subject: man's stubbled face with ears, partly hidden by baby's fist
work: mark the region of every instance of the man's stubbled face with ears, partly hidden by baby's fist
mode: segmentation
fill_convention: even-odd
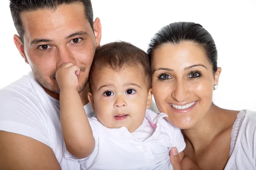
[[[55,73],[66,62],[81,68],[79,92],[82,91],[101,38],[99,19],[94,22],[94,35],[82,3],[61,5],[56,10],[24,11],[20,17],[25,31],[23,51],[22,47],[17,48],[47,93],[59,94]]]

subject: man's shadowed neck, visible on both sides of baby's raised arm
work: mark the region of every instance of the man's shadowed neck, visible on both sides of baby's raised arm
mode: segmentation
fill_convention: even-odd
[[[44,88],[44,87],[43,87]],[[44,88],[44,91],[49,94],[49,96],[53,97],[54,99],[60,100],[60,95],[48,90],[47,88]],[[84,87],[84,89],[79,93],[79,96],[81,98],[81,101],[83,103],[83,105],[86,105],[89,100],[87,97],[87,93],[89,92],[89,84],[87,83],[87,85]]]

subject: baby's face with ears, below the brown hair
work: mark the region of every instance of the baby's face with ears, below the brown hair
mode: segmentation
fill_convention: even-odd
[[[140,67],[125,67],[118,72],[103,68],[93,75],[91,90],[88,97],[97,119],[108,128],[125,126],[133,132],[151,105],[151,89]]]

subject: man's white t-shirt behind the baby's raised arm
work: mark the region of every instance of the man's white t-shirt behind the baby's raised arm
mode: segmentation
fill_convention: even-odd
[[[59,116],[59,101],[44,91],[31,72],[0,89],[0,130],[38,140],[52,148],[62,170],[80,170],[78,161],[64,157]]]

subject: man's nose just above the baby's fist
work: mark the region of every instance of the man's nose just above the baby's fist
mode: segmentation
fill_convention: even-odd
[[[72,62],[74,65],[76,65],[76,59],[75,56],[73,56],[72,52],[68,50],[67,48],[61,48],[58,50],[57,54],[57,69],[61,67],[64,63]]]

